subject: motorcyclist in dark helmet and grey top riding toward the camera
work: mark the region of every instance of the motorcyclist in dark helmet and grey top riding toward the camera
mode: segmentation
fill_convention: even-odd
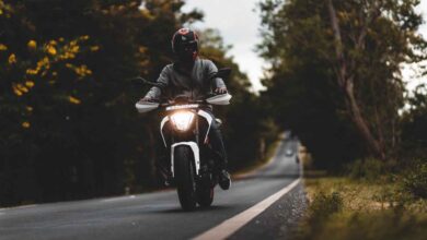
[[[212,91],[209,75],[218,71],[212,61],[198,58],[198,36],[188,28],[178,29],[172,37],[172,50],[176,57],[173,64],[163,68],[158,83],[161,87],[153,86],[140,101],[159,99],[169,93],[170,97],[184,95],[193,99],[204,99]],[[214,91],[217,94],[227,93],[227,86],[219,77],[214,80]],[[207,110],[212,117],[212,109]],[[215,119],[215,117],[214,117]],[[230,188],[230,175],[227,171],[227,154],[222,142],[221,132],[216,121],[212,121],[209,131],[209,141],[212,149],[219,155],[221,189]]]

